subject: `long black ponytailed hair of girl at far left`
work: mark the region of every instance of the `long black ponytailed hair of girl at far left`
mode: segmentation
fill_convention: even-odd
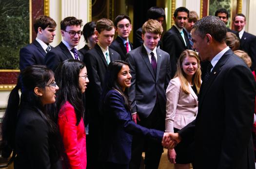
[[[45,106],[42,105],[40,96],[34,93],[36,87],[44,89],[54,81],[54,73],[46,66],[30,66],[24,69],[19,77],[16,87],[11,91],[8,99],[7,108],[1,124],[1,137],[4,143],[2,155],[9,157],[13,151],[12,162],[16,156],[15,151],[15,132],[17,126],[18,113],[24,107],[34,110],[39,113],[49,126],[49,142],[51,147],[56,150],[59,155],[59,137],[58,126],[50,118],[48,112],[45,111]],[[21,96],[19,95],[19,90]],[[55,154],[56,156],[56,154]],[[58,157],[57,157],[58,158]]]

